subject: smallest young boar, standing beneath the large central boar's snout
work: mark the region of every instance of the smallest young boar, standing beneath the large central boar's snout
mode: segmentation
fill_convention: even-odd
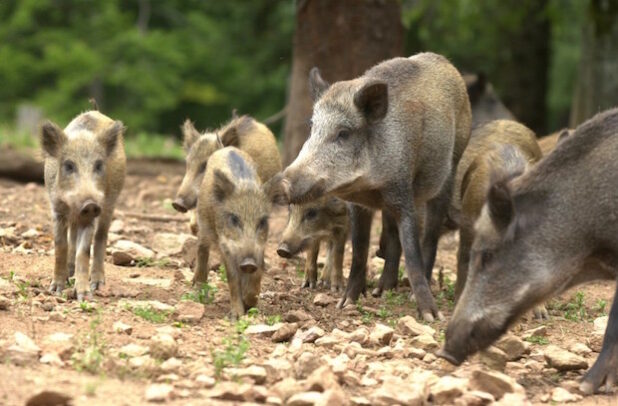
[[[307,251],[302,287],[315,288],[320,243],[326,241],[328,253],[320,285],[336,292],[343,288],[343,251],[347,238],[348,208],[344,201],[324,197],[310,203],[292,204],[277,254],[291,258],[300,251]]]

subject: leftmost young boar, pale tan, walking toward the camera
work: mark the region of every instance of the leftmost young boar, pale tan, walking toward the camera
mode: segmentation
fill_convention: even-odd
[[[54,221],[52,292],[60,294],[73,273],[80,301],[105,283],[107,232],[126,171],[123,131],[120,121],[98,111],[80,114],[64,130],[49,121],[41,128],[45,187]]]

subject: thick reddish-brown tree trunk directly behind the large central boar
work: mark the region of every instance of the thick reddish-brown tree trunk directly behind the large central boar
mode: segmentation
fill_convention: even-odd
[[[283,162],[296,158],[309,135],[313,102],[309,70],[317,66],[329,82],[352,79],[403,52],[398,0],[299,0]]]

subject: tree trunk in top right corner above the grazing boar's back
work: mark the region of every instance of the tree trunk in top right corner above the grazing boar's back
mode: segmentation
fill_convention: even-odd
[[[618,105],[618,0],[591,0],[570,127]]]

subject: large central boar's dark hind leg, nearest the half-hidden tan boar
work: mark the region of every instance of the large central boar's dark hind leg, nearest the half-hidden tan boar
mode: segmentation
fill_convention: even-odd
[[[453,176],[445,182],[438,196],[427,202],[425,211],[425,222],[423,225],[421,249],[423,253],[423,264],[425,265],[425,277],[431,281],[433,266],[436,262],[436,252],[438,250],[438,240],[442,232],[442,225],[451,202],[453,190]]]

